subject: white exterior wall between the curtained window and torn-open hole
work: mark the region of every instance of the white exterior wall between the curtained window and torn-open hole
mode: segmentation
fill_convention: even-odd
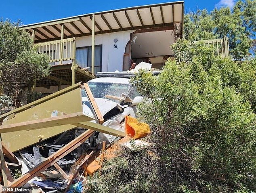
[[[102,70],[103,72],[113,72],[123,70],[124,51],[127,42],[130,40],[130,34],[133,31],[120,31],[108,34],[99,34],[95,36],[95,45],[102,44]],[[118,42],[114,43],[114,39]],[[118,48],[114,48],[114,44]],[[76,47],[92,45],[92,36],[76,38]]]

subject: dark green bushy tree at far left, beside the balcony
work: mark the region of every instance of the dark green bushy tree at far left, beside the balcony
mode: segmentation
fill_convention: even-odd
[[[49,59],[33,48],[29,33],[0,19],[0,86],[4,94],[19,96],[21,89],[49,74]]]

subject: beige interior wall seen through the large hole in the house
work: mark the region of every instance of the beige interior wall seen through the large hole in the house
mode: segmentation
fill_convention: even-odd
[[[132,59],[173,55],[174,30],[136,33],[132,40]]]

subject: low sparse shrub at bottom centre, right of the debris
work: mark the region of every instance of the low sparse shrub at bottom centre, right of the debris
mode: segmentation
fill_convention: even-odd
[[[141,167],[143,166],[143,167]],[[86,193],[151,193],[156,187],[159,165],[149,149],[124,149],[107,159],[103,168],[88,179]]]

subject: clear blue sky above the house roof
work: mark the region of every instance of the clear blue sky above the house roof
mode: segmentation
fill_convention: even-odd
[[[175,0],[1,0],[0,17],[11,21],[21,19],[25,25],[86,13],[173,1]],[[212,10],[216,6],[232,7],[235,4],[235,0],[184,1],[185,12],[197,8]]]

